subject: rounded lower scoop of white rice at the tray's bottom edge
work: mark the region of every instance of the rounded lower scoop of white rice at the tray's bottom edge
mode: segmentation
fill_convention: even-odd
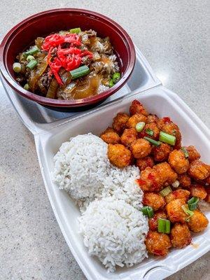
[[[146,218],[123,200],[114,197],[94,200],[79,220],[88,252],[97,256],[109,272],[116,265],[130,267],[147,256]]]

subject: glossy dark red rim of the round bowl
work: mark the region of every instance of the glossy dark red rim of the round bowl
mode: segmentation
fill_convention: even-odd
[[[12,76],[10,76],[9,71],[7,70],[3,54],[6,52],[8,43],[10,43],[10,36],[13,35],[14,31],[17,31],[17,29],[20,29],[22,25],[25,25],[25,23],[29,22],[30,20],[33,20],[34,18],[38,18],[40,15],[49,15],[51,13],[57,13],[57,12],[62,12],[62,11],[69,11],[69,12],[78,12],[78,13],[86,13],[87,15],[94,15],[95,17],[102,18],[103,20],[106,20],[110,22],[112,25],[118,28],[118,31],[123,35],[125,40],[127,41],[128,45],[128,51],[130,52],[130,61],[128,62],[127,69],[125,70],[125,73],[123,74],[122,78],[120,81],[111,87],[109,90],[105,90],[104,92],[94,95],[93,97],[87,97],[84,99],[74,99],[74,100],[59,100],[59,99],[50,99],[46,97],[41,97],[37,94],[34,94],[32,92],[29,92],[25,90],[23,87],[21,87],[14,79]],[[106,17],[105,15],[102,15],[100,13],[95,13],[91,10],[85,10],[85,9],[79,9],[79,8],[56,8],[52,10],[45,10],[41,13],[36,13],[34,15],[31,15],[29,18],[26,18],[25,20],[22,20],[21,22],[18,23],[18,25],[15,25],[8,33],[6,36],[4,36],[3,40],[1,41],[0,45],[0,64],[1,64],[1,73],[3,78],[6,80],[8,85],[13,88],[13,90],[18,91],[20,95],[23,97],[26,97],[27,99],[33,100],[34,102],[37,102],[38,104],[43,104],[45,106],[54,106],[54,107],[77,107],[77,106],[87,106],[90,104],[94,104],[97,102],[102,101],[103,99],[106,99],[109,97],[111,94],[115,93],[117,90],[120,90],[123,85],[125,85],[127,79],[130,77],[134,65],[135,65],[135,60],[136,60],[136,52],[134,48],[134,43],[132,42],[132,39],[130,36],[127,34],[125,29],[118,25],[117,22],[114,20],[111,20],[110,18]]]

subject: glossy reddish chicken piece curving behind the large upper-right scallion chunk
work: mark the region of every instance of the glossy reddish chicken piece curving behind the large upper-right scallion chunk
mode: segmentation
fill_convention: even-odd
[[[179,131],[178,125],[173,123],[169,117],[160,118],[157,121],[157,125],[159,130],[162,130],[163,132],[174,135],[176,137],[176,144],[174,148],[179,150],[181,148],[181,133]]]

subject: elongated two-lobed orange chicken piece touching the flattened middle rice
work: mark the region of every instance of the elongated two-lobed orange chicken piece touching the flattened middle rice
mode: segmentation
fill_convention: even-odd
[[[141,190],[156,191],[161,190],[165,185],[176,181],[177,174],[167,162],[159,163],[153,168],[146,167],[141,172],[140,179],[137,179]]]

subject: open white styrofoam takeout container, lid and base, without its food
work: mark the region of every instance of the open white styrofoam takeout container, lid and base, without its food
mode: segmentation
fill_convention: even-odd
[[[173,92],[165,89],[155,78],[148,63],[137,51],[137,65],[132,76],[133,84],[125,86],[124,92],[117,92],[111,101],[104,102],[94,110],[78,113],[49,111],[38,104],[26,103],[6,85],[4,88],[16,111],[29,130],[34,134],[38,160],[52,209],[73,256],[90,280],[160,280],[177,272],[200,258],[210,249],[210,228],[193,235],[193,244],[180,250],[172,250],[166,258],[148,258],[134,267],[123,267],[108,273],[97,258],[92,258],[83,245],[83,237],[78,233],[80,211],[64,191],[52,183],[53,156],[64,141],[78,134],[92,132],[100,134],[111,125],[116,113],[128,112],[130,103],[139,99],[149,112],[159,117],[170,116],[180,127],[184,145],[195,145],[208,162],[210,153],[210,132],[202,121]],[[139,54],[139,56],[138,56]],[[139,58],[138,58],[139,57]],[[139,76],[138,73],[141,73]],[[129,92],[129,90],[134,90]],[[38,106],[37,106],[38,105]],[[210,219],[210,213],[206,213]]]

